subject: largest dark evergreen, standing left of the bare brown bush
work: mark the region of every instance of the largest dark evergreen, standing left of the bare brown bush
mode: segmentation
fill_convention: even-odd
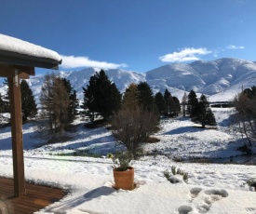
[[[113,112],[119,110],[121,94],[103,70],[90,77],[89,85],[84,89],[84,108],[88,108],[91,120],[99,113],[108,119]]]

